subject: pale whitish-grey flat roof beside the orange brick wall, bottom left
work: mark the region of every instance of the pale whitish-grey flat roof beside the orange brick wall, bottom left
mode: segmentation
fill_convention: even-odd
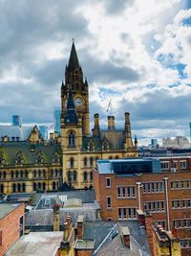
[[[11,247],[7,256],[53,256],[63,239],[63,232],[31,232]]]

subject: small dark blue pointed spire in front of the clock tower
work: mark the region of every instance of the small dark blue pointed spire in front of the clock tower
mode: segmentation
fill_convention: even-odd
[[[67,110],[66,110],[66,116],[65,116],[65,123],[67,124],[77,124],[77,115],[74,107],[74,98],[73,98],[73,92],[70,88],[69,90],[69,96],[68,96],[68,102],[67,102]]]

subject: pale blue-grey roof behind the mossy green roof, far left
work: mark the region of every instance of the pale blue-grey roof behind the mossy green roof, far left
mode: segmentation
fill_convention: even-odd
[[[11,137],[18,137],[19,141],[27,140],[32,133],[33,127],[17,127],[17,126],[0,126],[0,141],[2,137],[8,136],[11,140]]]

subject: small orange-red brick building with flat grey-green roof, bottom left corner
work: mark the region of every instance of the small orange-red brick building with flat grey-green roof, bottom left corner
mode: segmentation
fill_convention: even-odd
[[[23,236],[24,228],[24,204],[0,203],[0,256]]]

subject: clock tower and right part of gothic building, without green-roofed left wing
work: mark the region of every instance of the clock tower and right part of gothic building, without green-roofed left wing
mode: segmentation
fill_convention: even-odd
[[[129,113],[125,113],[124,129],[115,128],[115,117],[108,116],[108,129],[95,126],[90,135],[89,84],[83,80],[82,68],[74,42],[65,82],[61,85],[61,148],[63,154],[63,181],[75,188],[88,187],[93,181],[92,169],[97,159],[136,157],[137,140],[132,142]]]

